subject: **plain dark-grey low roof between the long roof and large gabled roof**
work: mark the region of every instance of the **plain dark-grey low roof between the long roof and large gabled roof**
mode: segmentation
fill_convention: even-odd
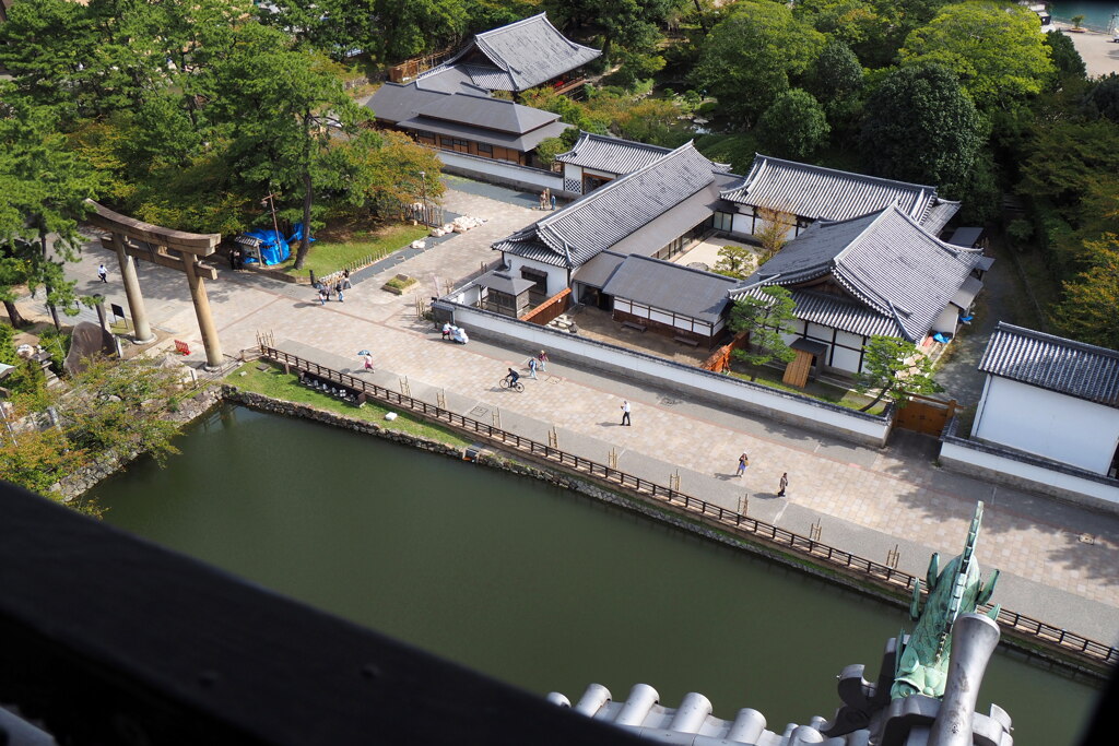
[[[726,292],[736,282],[733,277],[631,254],[602,292],[714,323],[730,302]]]

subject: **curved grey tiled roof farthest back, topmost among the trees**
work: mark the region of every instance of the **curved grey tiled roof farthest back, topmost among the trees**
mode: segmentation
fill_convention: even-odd
[[[440,67],[451,67],[478,49],[492,64],[464,66],[471,79],[490,91],[526,91],[581,67],[602,55],[564,37],[546,13],[474,35],[473,41]],[[439,69],[439,68],[436,68]]]

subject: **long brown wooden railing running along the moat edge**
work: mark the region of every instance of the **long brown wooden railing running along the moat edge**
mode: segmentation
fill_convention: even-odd
[[[368,397],[411,409],[412,412],[420,413],[425,417],[436,419],[441,423],[446,423],[452,427],[469,431],[492,441],[498,441],[502,445],[513,446],[514,448],[526,452],[530,455],[556,462],[557,464],[568,466],[579,472],[585,472],[591,476],[612,482],[628,490],[632,490],[642,497],[651,497],[667,504],[681,507],[690,513],[697,513],[706,519],[714,519],[718,522],[720,528],[733,529],[740,532],[749,533],[753,537],[771,541],[781,547],[787,547],[802,556],[821,559],[831,565],[855,570],[873,580],[897,586],[899,588],[903,588],[910,593],[912,593],[914,585],[918,583],[918,577],[915,575],[910,575],[904,570],[896,569],[888,565],[883,565],[882,563],[876,563],[873,559],[859,557],[858,555],[853,555],[849,551],[844,551],[843,549],[821,544],[820,541],[810,539],[809,537],[800,533],[794,533],[793,531],[786,530],[772,523],[767,523],[765,521],[758,520],[756,518],[750,518],[733,510],[727,510],[722,506],[709,503],[706,500],[700,500],[699,498],[680,492],[679,490],[675,490],[670,487],[651,482],[642,476],[637,476],[636,474],[630,474],[619,469],[591,461],[590,459],[584,459],[583,456],[575,455],[574,453],[561,451],[560,448],[552,447],[551,445],[534,441],[523,435],[510,433],[507,429],[495,427],[489,423],[460,415],[455,412],[444,409],[433,404],[427,404],[426,402],[416,399],[412,396],[398,394],[397,391],[385,388],[384,386],[378,386],[363,380],[361,378],[350,376],[349,374],[344,374],[333,370],[332,368],[320,366],[319,363],[301,358],[298,355],[292,355],[273,347],[261,344],[261,357],[269,358],[280,365],[294,366],[297,369],[304,372],[337,383],[341,386],[346,386],[347,388],[357,389]],[[980,611],[982,612],[987,612],[990,608],[990,604],[984,604],[980,606]],[[1045,622],[1040,622],[1029,616],[1007,611],[1005,608],[999,610],[997,618],[999,624],[1003,626],[1008,627],[1024,636],[1034,638],[1041,643],[1056,645],[1061,650],[1079,653],[1094,662],[1103,663],[1106,665],[1115,665],[1116,663],[1119,663],[1119,649],[1113,646],[1106,645],[1101,642],[1090,640],[1082,635],[1055,627],[1051,624],[1046,624]]]

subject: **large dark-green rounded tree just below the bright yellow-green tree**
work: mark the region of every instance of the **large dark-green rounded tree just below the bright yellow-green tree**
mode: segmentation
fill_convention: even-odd
[[[871,94],[859,148],[878,176],[944,187],[965,180],[985,140],[952,73],[928,65],[891,73]]]

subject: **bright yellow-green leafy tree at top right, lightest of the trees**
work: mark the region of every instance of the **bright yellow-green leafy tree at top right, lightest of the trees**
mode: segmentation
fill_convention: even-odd
[[[995,2],[944,7],[909,35],[899,56],[904,66],[943,65],[984,110],[1041,93],[1055,72],[1036,13]]]

